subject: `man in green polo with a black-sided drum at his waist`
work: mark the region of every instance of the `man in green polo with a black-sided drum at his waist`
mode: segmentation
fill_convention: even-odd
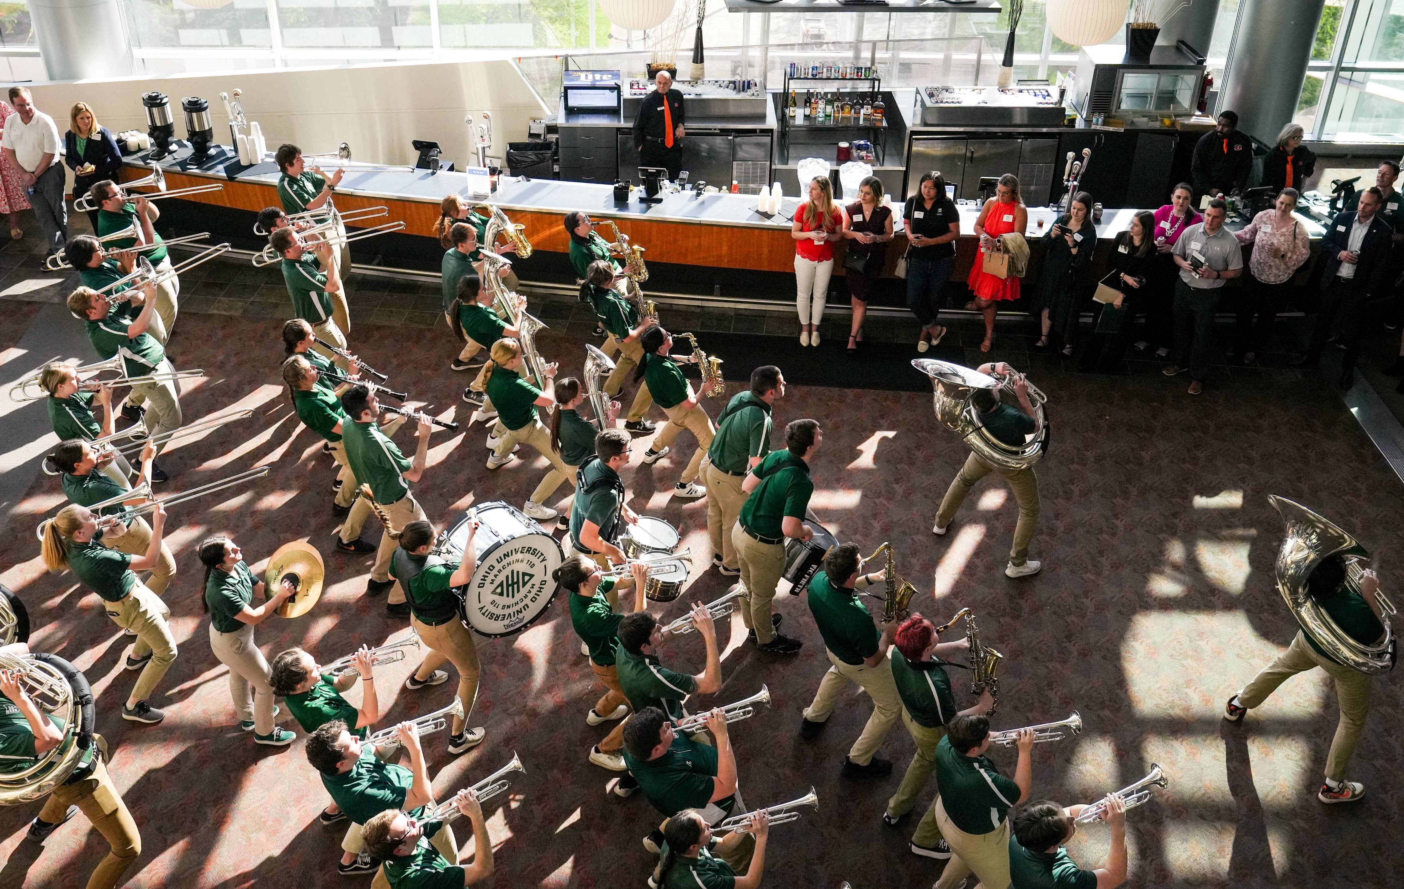
[[[776,632],[775,584],[785,574],[785,538],[807,541],[814,531],[804,524],[814,482],[809,463],[824,444],[817,420],[792,420],[785,427],[785,449],[772,451],[751,466],[741,482],[746,503],[731,528],[731,546],[741,567],[746,602],[741,619],[755,647],[771,654],[799,653],[799,639]]]

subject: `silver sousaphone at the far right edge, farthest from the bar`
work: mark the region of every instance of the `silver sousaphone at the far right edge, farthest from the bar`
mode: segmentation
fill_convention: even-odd
[[[1375,595],[1383,612],[1380,622],[1384,625],[1384,638],[1376,645],[1366,645],[1346,635],[1307,591],[1307,577],[1332,555],[1345,558],[1345,583],[1349,588],[1359,590],[1365,573],[1362,562],[1369,559],[1369,551],[1304,506],[1276,494],[1271,494],[1268,503],[1278,510],[1286,525],[1286,536],[1278,549],[1278,591],[1302,625],[1302,632],[1316,640],[1331,659],[1352,670],[1367,676],[1391,670],[1396,645],[1389,615],[1398,612],[1383,593],[1376,591]]]

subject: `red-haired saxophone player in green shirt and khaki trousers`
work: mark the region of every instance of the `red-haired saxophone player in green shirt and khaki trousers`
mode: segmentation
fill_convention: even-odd
[[[994,697],[986,690],[980,692],[974,706],[956,711],[951,677],[941,667],[941,659],[967,650],[969,639],[941,642],[935,625],[914,614],[897,628],[893,647],[892,678],[897,684],[897,697],[901,698],[901,722],[907,726],[917,753],[911,757],[897,792],[887,801],[887,809],[882,815],[887,824],[900,822],[927,786],[927,778],[936,764],[936,744],[946,736],[946,725],[956,716],[983,715],[994,706]],[[922,826],[934,830],[935,836],[914,837],[911,851],[927,858],[949,858],[951,847],[941,838],[935,819],[929,823],[924,820]]]

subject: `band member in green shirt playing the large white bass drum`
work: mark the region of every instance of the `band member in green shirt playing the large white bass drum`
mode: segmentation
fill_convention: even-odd
[[[439,670],[445,663],[452,663],[458,670],[458,699],[463,705],[463,715],[453,716],[448,739],[448,751],[455,756],[483,743],[486,735],[482,727],[468,727],[473,702],[477,701],[482,663],[477,646],[473,645],[473,633],[458,617],[459,601],[453,594],[477,570],[477,551],[473,549],[476,535],[477,520],[473,520],[468,524],[462,560],[448,562],[434,552],[438,536],[434,525],[416,520],[400,531],[400,546],[390,558],[390,576],[400,581],[410,605],[410,626],[430,649],[414,673],[404,680],[404,687],[413,691],[448,681],[448,673]]]

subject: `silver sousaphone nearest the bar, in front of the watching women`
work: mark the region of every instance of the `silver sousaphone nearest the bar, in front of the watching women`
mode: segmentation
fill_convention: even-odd
[[[965,438],[970,449],[987,463],[1002,469],[1029,469],[1047,451],[1049,421],[1045,413],[1047,396],[1032,383],[1029,383],[1029,402],[1033,404],[1039,431],[1022,445],[1012,447],[986,431],[972,396],[976,389],[1000,389],[1012,393],[1016,375],[981,374],[959,364],[934,358],[913,358],[911,367],[931,378],[931,388],[935,390],[936,419],[948,430]]]

